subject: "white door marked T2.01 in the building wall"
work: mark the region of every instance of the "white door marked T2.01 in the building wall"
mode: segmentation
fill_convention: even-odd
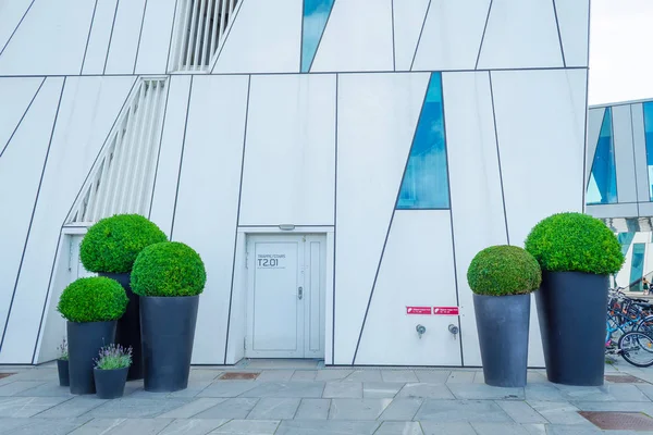
[[[324,358],[326,239],[250,236],[245,352],[249,358]]]

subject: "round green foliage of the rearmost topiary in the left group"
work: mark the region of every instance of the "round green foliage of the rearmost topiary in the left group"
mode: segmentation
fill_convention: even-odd
[[[79,259],[87,271],[128,273],[145,247],[165,240],[165,234],[140,214],[116,214],[88,228]]]

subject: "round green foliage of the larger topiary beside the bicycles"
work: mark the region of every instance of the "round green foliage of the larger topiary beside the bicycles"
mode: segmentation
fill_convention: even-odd
[[[582,213],[558,213],[537,224],[526,250],[550,272],[617,273],[624,264],[621,246],[600,220]]]

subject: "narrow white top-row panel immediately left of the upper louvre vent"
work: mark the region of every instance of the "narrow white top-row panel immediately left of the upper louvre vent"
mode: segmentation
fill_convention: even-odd
[[[136,74],[165,74],[175,0],[148,1],[136,59]]]

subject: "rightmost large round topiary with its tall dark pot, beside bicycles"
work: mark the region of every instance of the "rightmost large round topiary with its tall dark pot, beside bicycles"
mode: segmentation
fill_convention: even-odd
[[[535,293],[549,381],[603,385],[608,276],[624,264],[617,237],[582,213],[558,213],[535,225],[526,250],[542,268]]]

